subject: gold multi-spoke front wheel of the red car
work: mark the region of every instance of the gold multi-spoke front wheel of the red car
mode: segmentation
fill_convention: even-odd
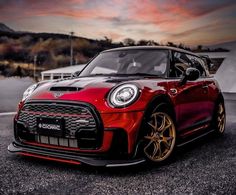
[[[175,125],[164,112],[155,112],[148,122],[150,132],[144,136],[147,145],[145,155],[153,162],[161,162],[172,153],[176,141]]]

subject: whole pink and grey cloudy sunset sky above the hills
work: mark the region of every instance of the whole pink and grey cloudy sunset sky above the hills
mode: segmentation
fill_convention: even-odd
[[[14,30],[186,45],[236,40],[235,0],[0,0]]]

